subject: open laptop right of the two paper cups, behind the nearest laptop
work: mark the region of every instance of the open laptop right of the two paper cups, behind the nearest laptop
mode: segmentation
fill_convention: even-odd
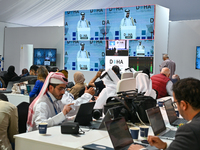
[[[153,107],[146,110],[154,135],[165,139],[174,139],[176,131],[166,128],[160,108]]]

